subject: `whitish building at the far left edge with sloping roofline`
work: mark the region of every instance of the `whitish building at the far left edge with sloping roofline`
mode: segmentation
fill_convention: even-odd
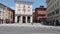
[[[8,19],[8,14],[7,14],[5,8],[6,8],[6,6],[4,4],[0,3],[0,19],[3,20],[3,23],[5,22],[5,19]]]

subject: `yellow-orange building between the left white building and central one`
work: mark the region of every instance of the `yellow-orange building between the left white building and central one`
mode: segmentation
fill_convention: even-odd
[[[8,14],[8,19],[6,19],[6,23],[8,23],[8,21],[10,23],[14,23],[14,21],[15,21],[15,11],[12,10],[11,8],[9,8],[9,7],[6,7],[5,10]]]

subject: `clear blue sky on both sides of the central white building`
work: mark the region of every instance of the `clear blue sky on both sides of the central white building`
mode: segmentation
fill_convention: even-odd
[[[25,1],[33,2],[33,4],[32,4],[33,9],[35,9],[41,5],[46,7],[46,0],[25,0]],[[0,0],[0,2],[15,10],[14,0]]]

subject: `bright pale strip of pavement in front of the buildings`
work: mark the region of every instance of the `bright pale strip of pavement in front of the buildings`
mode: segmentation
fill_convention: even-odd
[[[33,25],[32,24],[0,24],[0,26],[8,26],[8,27],[41,27],[41,28],[60,28],[60,26],[47,26],[47,25],[42,25],[40,23],[34,23]]]

